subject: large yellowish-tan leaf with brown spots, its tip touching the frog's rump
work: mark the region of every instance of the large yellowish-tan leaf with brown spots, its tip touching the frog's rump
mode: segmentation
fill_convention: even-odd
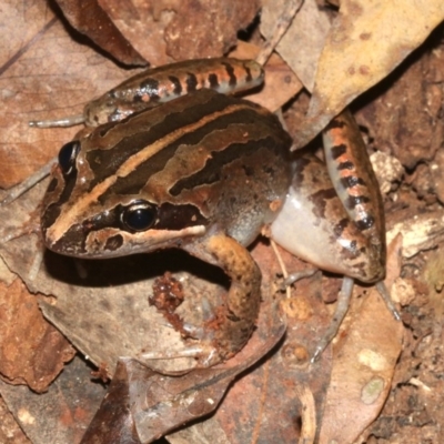
[[[444,18],[441,0],[341,1],[319,60],[303,147],[359,94],[376,84],[416,49]]]

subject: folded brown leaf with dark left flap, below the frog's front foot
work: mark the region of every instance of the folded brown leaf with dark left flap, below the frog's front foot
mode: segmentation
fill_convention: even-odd
[[[108,395],[82,442],[151,443],[208,415],[218,407],[234,377],[266,354],[284,331],[282,324],[274,325],[271,339],[236,366],[194,370],[174,376],[134,360],[120,360]]]

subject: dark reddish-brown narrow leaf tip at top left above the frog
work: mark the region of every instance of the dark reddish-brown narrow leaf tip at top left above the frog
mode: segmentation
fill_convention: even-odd
[[[97,0],[57,0],[64,17],[82,34],[123,64],[145,67],[148,63],[121,34]]]

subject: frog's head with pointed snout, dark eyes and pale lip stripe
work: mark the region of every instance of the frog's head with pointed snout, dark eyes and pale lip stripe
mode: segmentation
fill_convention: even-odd
[[[92,139],[97,139],[94,132]],[[125,165],[129,159],[119,159],[100,144],[92,150],[90,142],[88,135],[63,145],[51,173],[41,216],[50,250],[79,258],[113,258],[181,246],[205,232],[206,220],[196,206],[160,202],[141,193],[143,175],[127,186],[129,176],[122,172],[131,169]]]

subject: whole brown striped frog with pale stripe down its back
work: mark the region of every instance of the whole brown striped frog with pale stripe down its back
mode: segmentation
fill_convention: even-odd
[[[329,173],[313,155],[291,167],[276,117],[224,94],[262,81],[253,61],[180,62],[123,82],[81,117],[33,122],[95,127],[60,150],[41,218],[49,249],[104,259],[180,248],[229,275],[218,329],[190,332],[200,345],[184,351],[203,365],[234,355],[253,331],[261,272],[246,246],[268,225],[284,249],[349,276],[315,356],[337,331],[354,279],[379,282],[394,311],[381,284],[382,199],[353,118],[324,131]]]

